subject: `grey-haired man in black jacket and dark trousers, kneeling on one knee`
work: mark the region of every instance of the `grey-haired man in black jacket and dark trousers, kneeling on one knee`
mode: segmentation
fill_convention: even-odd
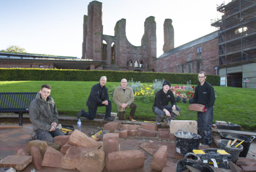
[[[86,102],[89,113],[85,112],[85,110],[82,109],[77,114],[78,118],[82,116],[90,120],[93,120],[96,116],[96,111],[98,106],[106,106],[104,120],[113,121],[113,119],[110,117],[112,106],[111,106],[111,101],[108,98],[107,87],[105,87],[106,81],[107,81],[107,77],[102,76],[99,80],[99,83],[92,86],[91,93]]]

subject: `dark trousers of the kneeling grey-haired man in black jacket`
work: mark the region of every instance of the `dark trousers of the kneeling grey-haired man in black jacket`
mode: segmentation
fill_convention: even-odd
[[[102,104],[102,103],[97,103],[95,108],[88,107],[88,112],[89,113],[83,111],[81,116],[86,117],[87,119],[93,120],[96,116],[98,106],[106,106],[105,118],[109,118],[110,114],[111,114],[111,108],[112,108],[110,100],[108,100],[108,105],[105,105],[105,104]]]

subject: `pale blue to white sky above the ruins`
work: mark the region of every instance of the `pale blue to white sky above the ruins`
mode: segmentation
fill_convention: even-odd
[[[92,0],[0,0],[0,50],[18,45],[27,53],[81,58],[83,16]],[[102,2],[103,34],[126,19],[128,41],[141,45],[144,21],[157,24],[157,57],[163,54],[164,19],[171,18],[178,47],[213,31],[219,0],[98,0]]]

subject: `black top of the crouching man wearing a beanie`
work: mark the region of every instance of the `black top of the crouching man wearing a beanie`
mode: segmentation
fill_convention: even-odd
[[[165,94],[164,90],[161,89],[156,94],[153,107],[157,106],[158,109],[163,110],[164,106],[168,105],[169,101],[171,102],[171,105],[176,105],[176,101],[175,101],[173,92],[171,90],[168,90],[168,92],[166,92],[166,94]]]

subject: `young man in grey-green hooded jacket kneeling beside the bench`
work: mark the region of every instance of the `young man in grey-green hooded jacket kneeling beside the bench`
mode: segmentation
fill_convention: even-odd
[[[53,142],[53,137],[64,133],[60,129],[55,129],[59,114],[50,93],[51,86],[41,86],[41,90],[29,104],[29,119],[36,133],[35,139]]]

